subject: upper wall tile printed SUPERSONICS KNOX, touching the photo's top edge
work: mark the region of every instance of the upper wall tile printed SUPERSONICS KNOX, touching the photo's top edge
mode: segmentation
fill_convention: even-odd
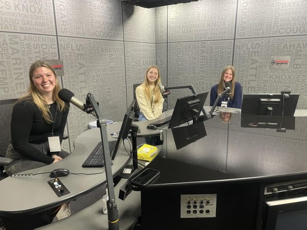
[[[235,0],[208,0],[168,6],[168,41],[234,37]]]

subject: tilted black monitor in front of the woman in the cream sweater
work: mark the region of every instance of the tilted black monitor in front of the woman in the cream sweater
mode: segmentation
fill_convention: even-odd
[[[197,122],[209,92],[178,98],[168,128],[193,120]]]

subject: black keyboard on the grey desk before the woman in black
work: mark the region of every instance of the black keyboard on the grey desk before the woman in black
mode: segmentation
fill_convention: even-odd
[[[116,145],[116,141],[108,142],[110,153],[114,149]],[[86,158],[82,167],[103,167],[103,153],[102,153],[102,144],[101,142],[95,147],[95,149],[91,152],[91,154]]]

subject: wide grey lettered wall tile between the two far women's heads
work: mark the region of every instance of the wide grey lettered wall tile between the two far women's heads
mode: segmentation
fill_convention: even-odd
[[[224,67],[232,63],[232,51],[233,40],[168,43],[168,86],[193,85],[196,93],[210,92]],[[185,94],[191,95],[191,91],[172,90],[168,108]],[[208,96],[205,105],[209,101]]]

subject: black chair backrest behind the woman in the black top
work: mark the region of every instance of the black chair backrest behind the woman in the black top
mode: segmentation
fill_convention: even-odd
[[[11,142],[11,114],[17,99],[0,100],[0,156],[5,156]]]

